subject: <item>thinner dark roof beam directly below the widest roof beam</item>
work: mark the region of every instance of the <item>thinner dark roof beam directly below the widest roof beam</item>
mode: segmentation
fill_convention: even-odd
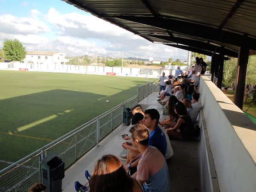
[[[166,41],[172,41],[172,42],[187,45],[190,47],[204,49],[204,50],[211,51],[211,52],[220,53],[221,51],[223,51],[224,55],[228,55],[228,56],[236,57],[236,58],[238,57],[238,53],[235,51],[231,51],[230,49],[226,49],[226,48],[221,49],[221,47],[218,47],[218,46],[215,46],[215,45],[212,45],[209,43],[204,43],[202,41],[195,41],[195,40],[185,39],[185,38],[168,37],[168,36],[162,36],[162,35],[148,35],[148,36],[163,39]]]

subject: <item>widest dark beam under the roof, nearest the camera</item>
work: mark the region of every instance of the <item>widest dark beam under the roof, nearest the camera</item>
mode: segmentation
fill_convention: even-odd
[[[178,32],[186,35],[204,38],[209,41],[217,41],[230,45],[241,45],[243,35],[237,33],[215,29],[198,23],[190,23],[182,20],[164,19],[155,17],[141,16],[115,16],[116,18],[140,23],[143,25],[153,26],[160,29]],[[256,49],[256,39],[250,38],[250,48]]]

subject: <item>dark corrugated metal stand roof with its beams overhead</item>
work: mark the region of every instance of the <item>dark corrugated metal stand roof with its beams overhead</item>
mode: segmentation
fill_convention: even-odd
[[[255,0],[63,0],[151,42],[238,57],[243,36],[256,54]]]

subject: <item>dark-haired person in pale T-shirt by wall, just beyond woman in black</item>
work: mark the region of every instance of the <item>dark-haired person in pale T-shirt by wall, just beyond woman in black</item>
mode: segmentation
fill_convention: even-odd
[[[200,95],[198,93],[192,93],[192,101],[184,99],[183,103],[188,108],[188,115],[191,117],[192,122],[195,122],[198,113],[201,109],[201,104],[198,102]]]

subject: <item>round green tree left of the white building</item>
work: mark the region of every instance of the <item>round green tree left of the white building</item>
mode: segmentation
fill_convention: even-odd
[[[4,39],[3,52],[10,61],[21,61],[26,57],[26,50],[17,39]]]

